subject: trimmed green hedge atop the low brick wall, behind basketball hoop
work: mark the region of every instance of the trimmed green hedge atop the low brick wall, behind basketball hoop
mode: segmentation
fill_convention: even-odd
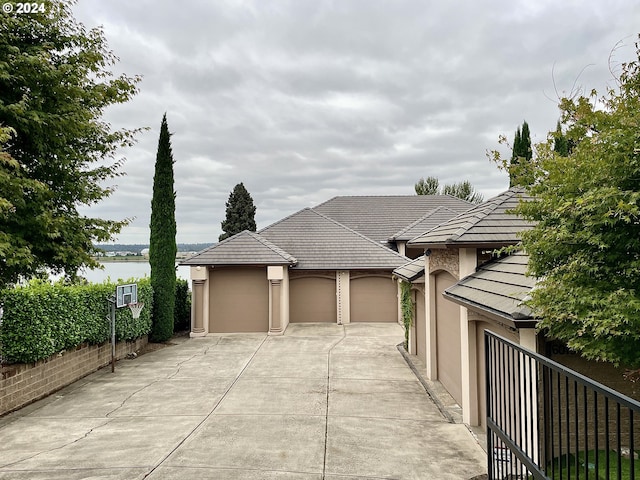
[[[117,340],[135,340],[151,330],[153,290],[148,278],[138,284],[138,302],[145,306],[134,320],[128,308],[116,310]],[[0,304],[0,349],[5,361],[31,363],[82,343],[109,340],[111,328],[107,299],[115,283],[64,285],[33,281],[4,290]]]

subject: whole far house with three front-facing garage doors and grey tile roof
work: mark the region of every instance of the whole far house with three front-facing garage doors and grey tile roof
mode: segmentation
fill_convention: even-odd
[[[234,235],[181,263],[191,267],[191,335],[397,322],[392,272],[410,260],[404,231],[470,207],[448,195],[339,196]]]

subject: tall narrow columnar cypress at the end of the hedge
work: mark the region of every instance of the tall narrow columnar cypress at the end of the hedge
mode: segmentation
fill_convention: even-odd
[[[149,264],[153,287],[151,340],[164,342],[173,334],[176,292],[176,194],[173,190],[173,153],[167,125],[162,117],[153,176]]]

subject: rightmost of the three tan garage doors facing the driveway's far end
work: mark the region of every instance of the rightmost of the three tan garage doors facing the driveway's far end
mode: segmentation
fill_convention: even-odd
[[[397,322],[398,285],[389,277],[357,277],[349,284],[352,322]]]

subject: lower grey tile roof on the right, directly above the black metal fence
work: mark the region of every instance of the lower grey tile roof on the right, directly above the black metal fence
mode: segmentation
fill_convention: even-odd
[[[455,303],[517,323],[531,322],[531,310],[522,301],[535,286],[536,279],[526,276],[529,257],[517,252],[478,267],[475,273],[444,291]]]

